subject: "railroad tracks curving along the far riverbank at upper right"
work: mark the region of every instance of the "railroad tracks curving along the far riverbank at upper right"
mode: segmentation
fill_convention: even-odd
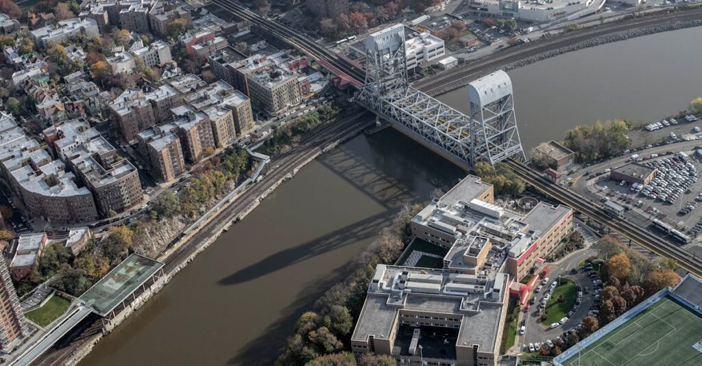
[[[540,39],[522,46],[507,48],[496,54],[490,55],[489,57],[483,57],[482,59],[478,60],[477,62],[473,62],[468,66],[451,69],[448,72],[432,76],[430,79],[423,79],[422,81],[414,83],[413,86],[425,93],[435,93],[439,90],[446,89],[446,87],[449,85],[460,85],[465,81],[477,79],[479,76],[483,76],[483,74],[488,74],[489,72],[500,69],[514,62],[540,55],[541,53],[551,50],[557,50],[562,47],[581,43],[583,41],[597,39],[602,36],[609,36],[611,34],[617,34],[632,29],[656,27],[696,19],[702,19],[702,8],[612,22],[607,25],[600,25],[597,27],[592,27],[591,29],[576,31],[565,36],[556,36],[555,38],[551,39]]]

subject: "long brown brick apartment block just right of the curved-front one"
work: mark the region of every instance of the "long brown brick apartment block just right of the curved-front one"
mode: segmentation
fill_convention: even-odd
[[[124,212],[143,201],[139,174],[134,165],[84,120],[66,121],[44,131],[55,153],[77,175],[95,198],[101,215]]]

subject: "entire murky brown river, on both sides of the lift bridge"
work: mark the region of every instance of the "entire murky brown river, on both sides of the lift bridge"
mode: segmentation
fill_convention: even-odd
[[[684,109],[702,94],[700,36],[654,34],[513,70],[525,149],[576,124]],[[465,88],[440,99],[467,107]],[[282,184],[81,365],[269,365],[393,212],[463,175],[395,130],[360,135]]]

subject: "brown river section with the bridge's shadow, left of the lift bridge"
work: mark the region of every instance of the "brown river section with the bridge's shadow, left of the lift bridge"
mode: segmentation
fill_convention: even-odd
[[[81,365],[268,365],[394,212],[464,175],[395,130],[359,135],[282,184]]]

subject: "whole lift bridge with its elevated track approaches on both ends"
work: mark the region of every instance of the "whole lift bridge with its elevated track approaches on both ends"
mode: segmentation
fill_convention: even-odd
[[[553,184],[539,172],[524,165],[517,122],[512,109],[511,83],[497,72],[470,83],[470,115],[446,106],[409,86],[404,55],[404,33],[396,25],[371,34],[366,39],[366,72],[344,57],[274,20],[268,20],[231,0],[213,0],[226,11],[248,20],[265,32],[286,41],[331,72],[353,79],[358,86],[355,100],[392,126],[428,145],[454,163],[470,168],[477,161],[505,161],[519,177],[555,200],[569,205],[609,229],[621,233],[661,257],[674,259],[683,269],[702,276],[702,261],[691,257],[641,226],[604,212],[595,203]],[[363,83],[361,81],[364,81]]]

